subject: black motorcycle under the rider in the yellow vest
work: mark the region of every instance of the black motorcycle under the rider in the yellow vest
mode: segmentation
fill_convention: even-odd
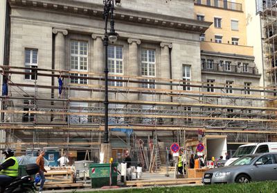
[[[36,164],[26,165],[27,176],[15,178],[8,187],[6,187],[4,193],[33,193],[36,188],[32,175],[39,172],[39,166]]]

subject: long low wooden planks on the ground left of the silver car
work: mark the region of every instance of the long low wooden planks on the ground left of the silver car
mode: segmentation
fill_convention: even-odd
[[[127,186],[143,187],[148,185],[179,185],[196,183],[201,184],[202,178],[179,178],[179,179],[163,179],[163,180],[143,180],[143,181],[127,181]]]

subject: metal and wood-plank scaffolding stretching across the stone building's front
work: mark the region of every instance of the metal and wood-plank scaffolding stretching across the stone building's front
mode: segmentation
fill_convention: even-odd
[[[104,130],[104,74],[10,66],[1,66],[1,74],[8,77],[8,94],[0,97],[0,129],[7,136],[0,144],[17,149],[99,149]],[[36,80],[23,83],[26,75]],[[62,94],[55,85],[59,77],[64,78]],[[42,84],[44,78],[51,81]],[[74,83],[76,78],[83,84]],[[224,83],[109,76],[110,83],[115,79],[120,86],[109,85],[110,135],[113,128],[123,128],[157,131],[173,138],[182,131],[188,138],[197,137],[201,129],[229,135],[229,142],[276,139],[277,108],[271,105],[277,99],[276,87],[230,88]],[[152,87],[141,86],[145,84]],[[214,92],[208,92],[211,87]],[[226,89],[233,93],[224,92]]]

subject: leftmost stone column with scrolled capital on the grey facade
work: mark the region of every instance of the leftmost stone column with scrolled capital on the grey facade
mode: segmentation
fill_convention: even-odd
[[[64,35],[68,34],[68,31],[64,29],[58,29],[58,28],[53,28],[52,32],[55,34],[55,60],[54,60],[54,69],[57,70],[64,70],[65,67],[65,44],[64,44]],[[57,73],[55,73],[57,74]],[[64,79],[64,83],[66,83]],[[54,84],[57,86],[57,78],[54,78]],[[64,84],[63,87],[66,87]],[[55,98],[58,97],[58,91],[55,90],[54,92]],[[64,102],[57,102],[55,101],[55,106],[60,106],[60,108],[64,107]],[[65,117],[62,115],[55,115],[53,121],[56,123],[63,123],[65,120]]]

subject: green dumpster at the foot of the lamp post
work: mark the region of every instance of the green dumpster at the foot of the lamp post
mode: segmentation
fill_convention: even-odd
[[[111,165],[111,185],[117,184],[117,165]],[[91,178],[91,187],[102,187],[109,185],[110,164],[91,164],[89,165],[89,177]]]

